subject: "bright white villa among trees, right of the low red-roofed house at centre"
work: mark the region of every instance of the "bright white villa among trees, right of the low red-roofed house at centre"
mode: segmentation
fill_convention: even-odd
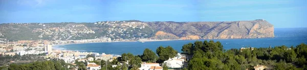
[[[169,58],[163,63],[166,64],[168,68],[183,68],[185,59],[181,57],[181,54],[178,53],[176,57]]]

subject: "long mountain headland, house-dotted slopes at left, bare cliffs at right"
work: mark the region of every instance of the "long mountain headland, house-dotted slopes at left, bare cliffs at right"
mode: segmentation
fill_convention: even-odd
[[[272,38],[274,26],[266,20],[225,22],[99,21],[94,23],[4,23],[0,38],[18,40],[249,39]]]

